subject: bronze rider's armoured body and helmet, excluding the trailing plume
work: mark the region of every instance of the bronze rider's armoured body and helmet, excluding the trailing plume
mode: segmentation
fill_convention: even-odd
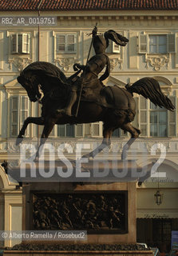
[[[57,113],[64,113],[71,116],[71,111],[73,104],[77,100],[77,90],[80,90],[82,83],[87,83],[87,88],[91,88],[93,86],[92,80],[96,80],[98,74],[105,68],[105,73],[101,76],[101,78],[97,78],[97,82],[101,82],[108,78],[110,71],[110,62],[109,57],[105,54],[105,49],[108,46],[108,42],[103,38],[102,35],[97,35],[97,26],[92,31],[93,34],[93,48],[95,50],[96,55],[89,59],[86,65],[80,65],[75,63],[73,65],[74,70],[83,70],[83,74],[81,74],[81,78],[78,78],[76,82],[72,84],[72,92],[70,94],[69,102],[67,102],[67,106],[65,106],[62,110],[57,110]],[[95,85],[97,83],[95,81]]]

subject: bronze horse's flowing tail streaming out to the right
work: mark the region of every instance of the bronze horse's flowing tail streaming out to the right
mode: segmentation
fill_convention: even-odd
[[[165,107],[167,110],[174,110],[170,99],[165,96],[160,90],[159,82],[154,78],[141,78],[133,83],[132,86],[126,85],[126,90],[129,90],[131,94],[136,93],[144,96],[144,98],[150,99],[156,106]]]

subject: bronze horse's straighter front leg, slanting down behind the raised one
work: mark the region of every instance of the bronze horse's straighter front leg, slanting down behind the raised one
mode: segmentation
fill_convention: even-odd
[[[42,152],[43,145],[45,144],[46,139],[49,137],[50,132],[53,130],[53,126],[55,125],[56,121],[57,120],[54,118],[45,118],[44,129],[42,131],[42,137],[36,154],[36,159],[40,156],[40,151]]]

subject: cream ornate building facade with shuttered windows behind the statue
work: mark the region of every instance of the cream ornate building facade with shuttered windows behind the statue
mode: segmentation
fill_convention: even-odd
[[[140,78],[153,77],[160,83],[164,94],[177,106],[176,1],[160,1],[159,4],[157,1],[145,3],[144,0],[97,1],[92,4],[92,1],[86,0],[82,4],[75,4],[73,1],[57,0],[55,3],[51,1],[50,4],[46,1],[22,1],[19,5],[15,5],[15,2],[18,1],[9,4],[3,0],[0,3],[1,162],[8,160],[7,141],[17,137],[24,120],[40,114],[38,103],[30,102],[26,91],[17,82],[19,72],[31,62],[45,61],[53,63],[69,77],[73,74],[73,63],[85,65],[91,43],[89,34],[96,23],[99,33],[112,29],[129,39],[125,47],[117,47],[110,42],[107,53],[111,73],[104,81],[105,86],[124,87],[127,83],[133,84]],[[16,21],[16,26],[11,23],[12,17],[21,18]],[[24,20],[29,17],[28,26],[25,26]],[[49,18],[47,24],[44,24],[43,17]],[[92,49],[90,56],[93,54]],[[141,130],[140,139],[133,146],[137,163],[145,166],[140,145],[144,147],[148,156],[148,169],[152,169],[159,159],[159,154],[161,157],[162,153],[164,154],[161,148],[159,151],[159,146],[158,151],[154,151],[154,145],[157,143],[166,149],[163,161],[158,162],[156,167],[158,173],[164,173],[164,179],[149,178],[147,182],[137,186],[137,240],[150,246],[159,246],[162,251],[168,251],[171,231],[178,230],[177,107],[174,112],[170,112],[154,106],[138,94],[134,97],[137,105],[134,125]],[[26,131],[26,138],[38,138],[41,133],[41,128],[30,125]],[[73,142],[76,138],[100,141],[102,122],[55,126],[50,137],[64,138],[68,142]],[[113,148],[117,145],[118,158],[121,158],[121,147],[128,138],[129,134],[116,130],[108,158],[112,158]],[[15,149],[14,158],[17,158]],[[130,153],[129,158],[133,158],[133,154]],[[3,168],[0,170],[0,177],[0,210],[1,216],[4,216],[0,222],[0,230],[21,229],[20,218],[19,226],[13,226],[16,225],[13,224],[16,219],[10,221],[10,216],[16,218],[21,214],[22,190],[19,189],[17,182],[10,182]],[[164,194],[163,202],[159,206],[154,201],[158,186]],[[13,242],[5,245],[12,246]]]

